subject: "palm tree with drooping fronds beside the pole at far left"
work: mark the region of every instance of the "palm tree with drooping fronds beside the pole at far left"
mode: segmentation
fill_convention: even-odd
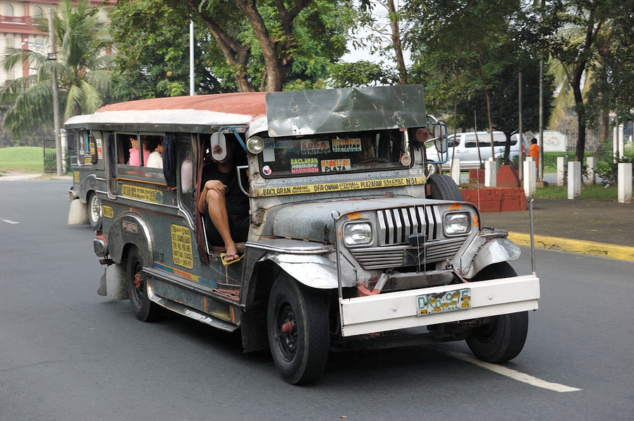
[[[0,102],[11,102],[4,128],[24,135],[35,127],[53,126],[53,69],[64,121],[78,114],[90,114],[104,104],[114,56],[107,26],[99,21],[98,11],[90,8],[87,1],[78,1],[75,8],[68,0],[59,4],[59,11],[53,16],[57,60],[47,60],[45,54],[30,49],[6,49],[0,63],[7,71],[21,69],[23,63],[28,63],[37,72],[1,85]],[[47,33],[47,18],[35,18],[34,26]]]

